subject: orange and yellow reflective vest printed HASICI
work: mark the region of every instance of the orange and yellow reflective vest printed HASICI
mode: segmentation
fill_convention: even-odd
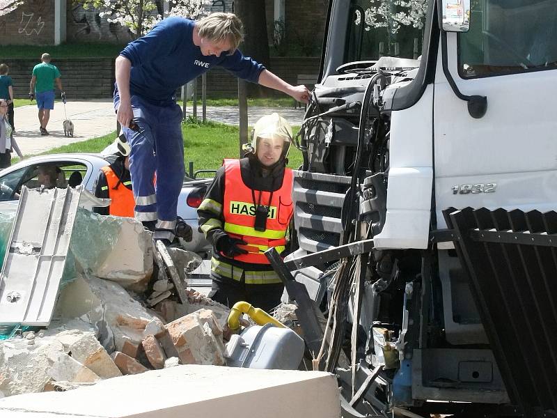
[[[242,181],[240,160],[224,160],[224,231],[240,238],[248,245],[243,247],[248,254],[235,256],[245,263],[269,264],[263,254],[270,247],[281,253],[286,244],[286,231],[292,218],[292,170],[284,170],[283,184],[274,192],[252,190]],[[255,196],[255,202],[253,201]],[[256,231],[256,208],[267,206],[265,231]]]

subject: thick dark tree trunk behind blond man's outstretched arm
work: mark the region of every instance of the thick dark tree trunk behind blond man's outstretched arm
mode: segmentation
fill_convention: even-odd
[[[265,17],[265,0],[235,0],[234,12],[244,23],[246,36],[240,45],[245,56],[251,56],[258,63],[269,65],[269,40],[267,37],[267,18]],[[261,97],[262,88],[257,84],[248,84],[248,95]]]

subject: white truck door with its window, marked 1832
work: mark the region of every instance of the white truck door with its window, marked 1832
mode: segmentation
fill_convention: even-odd
[[[470,29],[443,33],[434,93],[434,167],[441,210],[557,208],[557,0],[471,1]],[[464,95],[487,97],[470,116]]]

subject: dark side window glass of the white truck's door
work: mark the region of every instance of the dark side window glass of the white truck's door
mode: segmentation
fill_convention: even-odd
[[[472,0],[459,33],[464,78],[557,69],[557,0]]]

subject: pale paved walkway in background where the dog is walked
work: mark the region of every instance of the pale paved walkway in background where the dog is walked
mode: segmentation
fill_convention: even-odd
[[[197,108],[198,118],[202,116],[201,111],[200,105]],[[249,107],[248,123],[253,126],[261,116],[275,111],[285,117],[291,125],[299,126],[304,119],[304,109]],[[42,136],[39,132],[40,123],[36,102],[33,101],[33,104],[29,106],[15,108],[15,140],[23,155],[36,155],[58,146],[102,137],[116,130],[116,115],[112,100],[68,100],[65,112],[74,123],[73,137],[64,137],[62,124],[66,117],[62,102],[56,102],[54,110],[50,111],[50,120],[47,125],[49,135],[46,136]],[[191,116],[191,106],[187,107],[186,114]],[[233,106],[207,107],[207,119],[228,125],[238,125],[238,108]]]

